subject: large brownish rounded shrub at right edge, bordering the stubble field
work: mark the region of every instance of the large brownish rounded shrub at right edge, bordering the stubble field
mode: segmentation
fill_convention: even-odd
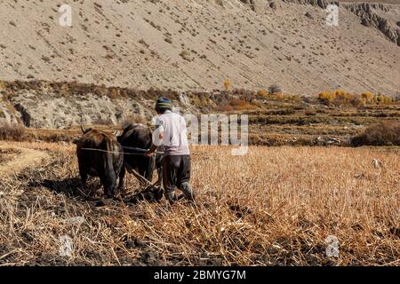
[[[352,146],[400,146],[400,123],[380,122],[351,139]]]

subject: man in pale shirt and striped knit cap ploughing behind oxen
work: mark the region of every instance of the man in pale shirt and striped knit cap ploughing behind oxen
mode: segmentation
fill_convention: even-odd
[[[172,113],[170,99],[160,98],[156,101],[156,132],[153,146],[146,153],[152,156],[157,146],[164,146],[163,185],[165,198],[173,203],[182,197],[194,201],[194,193],[189,185],[190,179],[190,151],[188,148],[187,126],[180,114]],[[158,136],[157,136],[158,135]],[[156,141],[159,138],[159,141]],[[159,143],[158,143],[159,142]],[[175,194],[178,187],[183,196]]]

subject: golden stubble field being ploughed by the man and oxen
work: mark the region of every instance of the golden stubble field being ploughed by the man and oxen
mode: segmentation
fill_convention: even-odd
[[[74,146],[12,145],[52,162],[0,182],[0,265],[400,264],[396,147],[193,147],[196,206],[171,207],[86,198]]]

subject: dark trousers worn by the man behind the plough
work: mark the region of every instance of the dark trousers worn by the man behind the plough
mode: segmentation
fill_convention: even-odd
[[[185,198],[193,201],[194,194],[190,180],[190,164],[189,155],[172,155],[164,156],[163,160],[163,185],[165,198],[172,202],[178,200],[175,195],[175,188],[178,187]]]

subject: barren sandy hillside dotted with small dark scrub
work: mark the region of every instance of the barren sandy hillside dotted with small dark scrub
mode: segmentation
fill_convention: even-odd
[[[329,27],[324,1],[74,1],[72,27],[61,27],[62,1],[1,3],[2,80],[212,90],[228,79],[300,95],[400,89],[398,5],[340,4],[340,25]]]

